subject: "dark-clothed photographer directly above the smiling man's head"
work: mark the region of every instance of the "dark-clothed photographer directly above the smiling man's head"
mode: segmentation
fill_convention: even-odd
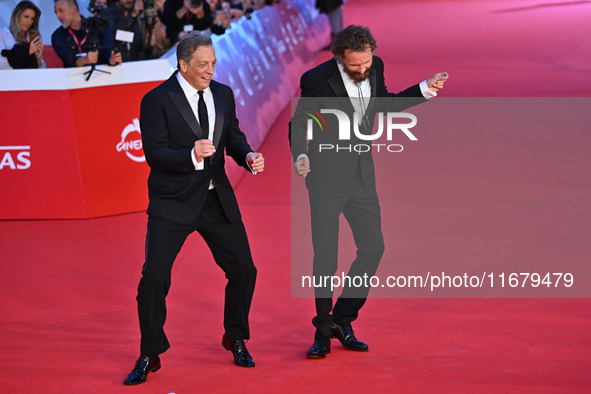
[[[213,13],[204,0],[167,0],[164,4],[162,21],[166,35],[175,44],[190,31],[208,31],[223,34],[224,28],[213,24]]]

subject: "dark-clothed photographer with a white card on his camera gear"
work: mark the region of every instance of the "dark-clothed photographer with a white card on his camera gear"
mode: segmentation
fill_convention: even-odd
[[[145,58],[144,33],[138,18],[143,10],[142,0],[117,0],[101,11],[100,16],[109,23],[109,34],[124,62]]]

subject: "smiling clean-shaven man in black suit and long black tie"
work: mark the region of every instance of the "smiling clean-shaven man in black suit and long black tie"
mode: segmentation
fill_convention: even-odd
[[[216,57],[211,39],[188,34],[177,47],[178,71],[142,99],[140,125],[150,166],[146,260],[138,287],[140,357],[125,380],[144,383],[160,368],[169,348],[164,334],[172,264],[185,239],[198,231],[228,283],[222,345],[234,363],[254,367],[244,340],[254,292],[253,264],[238,203],[224,168],[224,151],[252,171],[263,155],[253,152],[238,127],[230,87],[212,80]]]

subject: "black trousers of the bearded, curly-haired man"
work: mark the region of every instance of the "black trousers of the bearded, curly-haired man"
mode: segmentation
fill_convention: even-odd
[[[348,276],[375,275],[384,254],[384,238],[380,218],[380,204],[375,188],[364,189],[361,177],[356,175],[355,187],[349,196],[309,193],[314,247],[315,277],[333,276],[338,267],[339,216],[341,213],[351,227],[357,247],[357,257]],[[315,288],[316,339],[330,338],[330,325],[334,321],[350,326],[365,304],[370,287],[344,287],[334,304],[330,287]],[[332,311],[332,316],[331,316]]]

